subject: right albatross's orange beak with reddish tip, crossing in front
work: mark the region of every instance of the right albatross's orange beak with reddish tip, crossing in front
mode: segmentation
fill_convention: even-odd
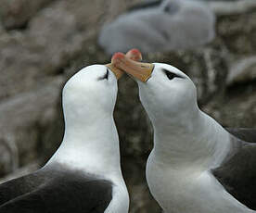
[[[153,64],[134,61],[122,53],[116,53],[112,56],[111,64],[143,82],[146,82],[151,77],[154,69]]]

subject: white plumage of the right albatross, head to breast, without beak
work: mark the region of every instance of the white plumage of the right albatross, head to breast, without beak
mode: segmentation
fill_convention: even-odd
[[[169,80],[163,70],[181,78]],[[155,63],[138,81],[141,102],[154,128],[147,183],[165,213],[255,212],[238,202],[211,175],[228,155],[229,133],[203,113],[194,83],[179,69]]]

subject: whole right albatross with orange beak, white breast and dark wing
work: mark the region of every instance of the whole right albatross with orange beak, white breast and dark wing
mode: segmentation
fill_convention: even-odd
[[[140,100],[154,128],[147,183],[165,213],[256,212],[256,131],[225,130],[198,108],[197,90],[167,64],[114,64],[142,80]],[[145,69],[147,68],[147,69]]]

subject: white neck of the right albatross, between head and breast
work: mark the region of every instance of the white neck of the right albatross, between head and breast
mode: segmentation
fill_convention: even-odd
[[[229,134],[199,109],[186,118],[154,125],[154,160],[173,169],[204,170],[220,164],[229,150]]]

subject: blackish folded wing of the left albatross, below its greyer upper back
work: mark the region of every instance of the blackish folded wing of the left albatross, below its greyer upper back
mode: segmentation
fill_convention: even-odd
[[[103,213],[112,199],[112,184],[61,173],[34,191],[0,206],[1,213]]]

